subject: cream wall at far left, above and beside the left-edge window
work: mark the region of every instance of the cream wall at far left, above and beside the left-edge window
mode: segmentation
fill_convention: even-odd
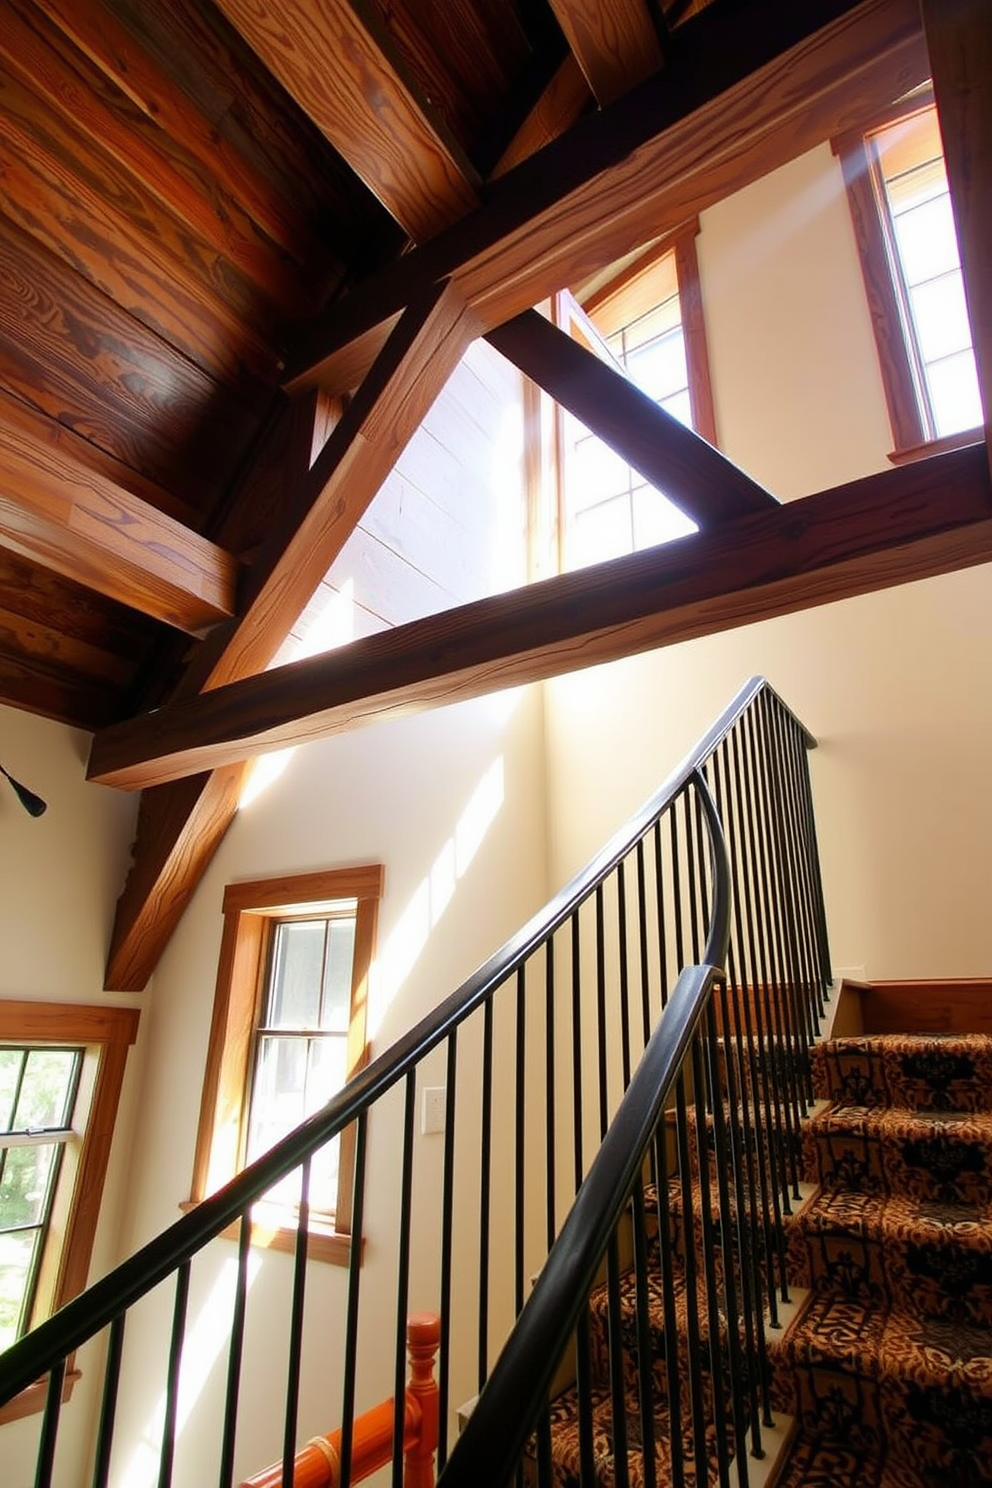
[[[86,784],[88,747],[85,734],[0,707],[0,760],[48,801],[48,812],[31,818],[6,781],[0,781],[0,998],[140,1003],[137,997],[103,990],[113,906],[134,836],[135,802]],[[128,1058],[91,1278],[109,1269],[119,1254],[144,1033],[141,1019],[138,1042]],[[74,1488],[85,1458],[97,1405],[95,1363],[88,1350],[80,1350],[77,1364],[83,1378],[62,1412],[57,1488]],[[4,1488],[28,1488],[34,1482],[39,1424],[40,1417],[28,1417],[0,1427]]]

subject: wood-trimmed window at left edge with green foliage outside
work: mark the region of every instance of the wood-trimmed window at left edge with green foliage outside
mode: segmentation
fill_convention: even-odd
[[[137,1028],[131,1007],[0,1001],[0,1350],[86,1286]],[[39,1382],[0,1423],[43,1405]]]

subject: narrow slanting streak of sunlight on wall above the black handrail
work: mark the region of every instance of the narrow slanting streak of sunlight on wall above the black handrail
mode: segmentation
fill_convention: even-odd
[[[503,754],[485,772],[428,872],[413,890],[393,933],[372,969],[369,1036],[375,1037],[382,1016],[400,991],[468,872],[506,799]]]

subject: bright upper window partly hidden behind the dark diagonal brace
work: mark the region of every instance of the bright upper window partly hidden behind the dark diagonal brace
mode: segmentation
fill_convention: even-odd
[[[582,292],[556,296],[555,321],[642,393],[715,443],[693,222]],[[696,531],[662,491],[559,412],[562,567],[651,548]]]

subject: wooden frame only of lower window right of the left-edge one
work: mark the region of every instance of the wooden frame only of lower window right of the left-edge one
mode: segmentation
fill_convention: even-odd
[[[382,865],[373,863],[228,884],[193,1177],[190,1199],[184,1208],[216,1192],[244,1165],[254,1030],[265,994],[269,939],[274,924],[280,920],[300,918],[303,914],[317,918],[327,905],[355,900],[348,1077],[366,1062],[369,970],[375,952],[382,882]],[[341,1134],[338,1204],[333,1222],[311,1211],[308,1254],[315,1260],[336,1265],[347,1265],[350,1260],[352,1181],[354,1128],[348,1128]],[[236,1238],[236,1226],[226,1234],[229,1238]],[[296,1248],[296,1226],[265,1226],[254,1220],[251,1242],[292,1251]]]

